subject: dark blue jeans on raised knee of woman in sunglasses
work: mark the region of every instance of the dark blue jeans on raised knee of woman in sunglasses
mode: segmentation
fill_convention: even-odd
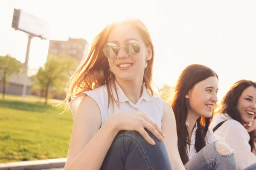
[[[146,131],[155,145],[137,131],[120,131],[100,170],[172,170],[165,144]]]

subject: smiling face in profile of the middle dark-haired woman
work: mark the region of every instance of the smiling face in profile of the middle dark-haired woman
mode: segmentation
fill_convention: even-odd
[[[218,79],[209,77],[189,90],[188,93],[188,114],[194,114],[196,117],[211,117],[213,106],[218,101]]]

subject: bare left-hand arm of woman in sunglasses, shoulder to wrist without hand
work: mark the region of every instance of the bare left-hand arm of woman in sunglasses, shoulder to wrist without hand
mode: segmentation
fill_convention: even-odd
[[[97,103],[85,96],[76,112],[64,170],[99,170],[118,131],[102,125]],[[99,129],[100,128],[100,129]]]

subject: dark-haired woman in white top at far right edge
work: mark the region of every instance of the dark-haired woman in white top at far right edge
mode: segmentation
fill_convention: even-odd
[[[255,116],[256,82],[240,80],[227,91],[210,125],[216,138],[236,151],[238,170],[256,170]]]

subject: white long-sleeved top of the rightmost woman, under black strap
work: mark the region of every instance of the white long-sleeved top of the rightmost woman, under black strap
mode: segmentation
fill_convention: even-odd
[[[256,156],[250,151],[251,147],[248,143],[249,133],[241,123],[231,119],[227,114],[215,114],[210,127],[214,128],[224,120],[227,121],[214,132],[214,135],[219,141],[225,142],[235,150],[238,170],[243,170],[256,162]]]

